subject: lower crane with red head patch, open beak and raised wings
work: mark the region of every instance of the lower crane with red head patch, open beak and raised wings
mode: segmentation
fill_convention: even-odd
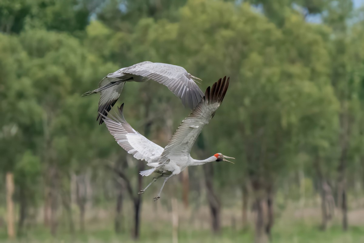
[[[229,78],[226,80],[226,77],[222,80],[219,79],[211,89],[208,87],[205,96],[190,115],[178,126],[177,131],[170,138],[164,149],[138,133],[125,121],[123,115],[124,104],[118,109],[119,115],[115,117],[111,114],[108,114],[107,117],[102,115],[107,129],[114,136],[118,144],[128,153],[133,154],[138,160],[145,160],[147,165],[151,167],[151,169],[141,171],[140,175],[149,176],[153,172],[161,174],[154,177],[151,183],[145,189],[139,191],[138,194],[144,193],[157,179],[166,177],[161,190],[154,197],[154,201],[158,200],[161,197],[161,192],[166,181],[171,176],[178,175],[187,166],[203,165],[213,161],[226,161],[234,164],[227,160],[227,158],[233,157],[224,156],[221,153],[216,153],[206,160],[195,160],[190,156],[191,148],[201,133],[203,126],[209,123],[215,115],[215,111],[221,105],[227,87],[229,87]]]

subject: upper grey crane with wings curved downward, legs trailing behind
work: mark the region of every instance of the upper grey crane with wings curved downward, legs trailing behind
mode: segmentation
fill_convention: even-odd
[[[101,115],[107,115],[107,112],[115,105],[125,82],[157,81],[167,86],[173,94],[180,98],[185,107],[193,110],[203,96],[203,92],[196,84],[196,79],[201,80],[189,74],[183,67],[146,61],[108,74],[100,81],[98,89],[88,91],[82,96],[100,93],[96,121],[99,121],[101,125],[103,122]]]

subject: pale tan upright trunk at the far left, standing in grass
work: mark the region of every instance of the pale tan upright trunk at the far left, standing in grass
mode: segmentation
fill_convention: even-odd
[[[7,211],[7,230],[10,239],[15,238],[14,228],[14,176],[12,172],[6,173],[6,211]]]

